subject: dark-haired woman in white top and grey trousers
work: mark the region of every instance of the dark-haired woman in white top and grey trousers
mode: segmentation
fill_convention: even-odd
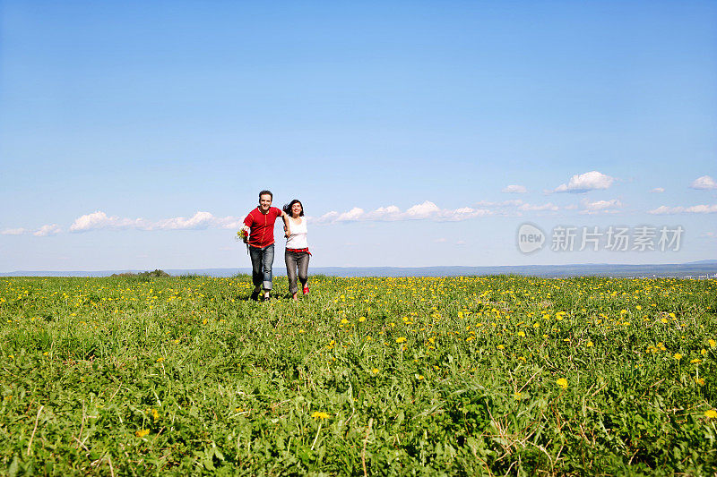
[[[289,215],[289,235],[284,251],[286,274],[289,277],[289,292],[294,300],[298,300],[297,270],[302,291],[308,294],[308,260],[311,252],[308,251],[307,218],[304,217],[304,206],[297,199],[285,205],[284,212]]]

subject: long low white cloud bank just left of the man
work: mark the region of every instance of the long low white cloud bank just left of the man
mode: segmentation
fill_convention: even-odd
[[[101,210],[77,217],[70,232],[89,232],[104,228],[133,228],[137,230],[197,230],[206,228],[237,228],[238,217],[214,217],[209,212],[196,212],[194,216],[163,218],[156,222],[143,218],[109,217]]]

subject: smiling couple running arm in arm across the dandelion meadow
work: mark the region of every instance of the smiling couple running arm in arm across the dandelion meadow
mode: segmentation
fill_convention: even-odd
[[[303,293],[308,294],[308,260],[311,253],[307,243],[307,218],[304,206],[299,200],[291,200],[283,210],[272,207],[272,192],[259,192],[259,206],[249,212],[244,219],[244,229],[248,235],[244,242],[249,245],[252,259],[252,281],[254,293],[252,300],[258,300],[263,287],[263,299],[268,300],[272,291],[272,265],[274,262],[274,223],[278,217],[284,221],[286,236],[286,274],[289,277],[289,292],[298,300],[298,280]],[[298,274],[297,274],[298,271]]]

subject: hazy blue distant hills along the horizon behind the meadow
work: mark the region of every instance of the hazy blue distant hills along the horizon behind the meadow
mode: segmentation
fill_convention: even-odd
[[[278,264],[277,264],[278,265]],[[0,277],[109,277],[145,270],[101,271],[29,271],[0,273]],[[201,275],[233,277],[251,274],[251,268],[195,268],[165,269],[172,276]],[[286,269],[274,267],[276,276],[286,275]],[[469,277],[486,275],[523,275],[530,277],[717,277],[717,260],[656,265],[615,265],[589,263],[580,265],[514,265],[503,267],[314,267],[311,275],[330,277]]]

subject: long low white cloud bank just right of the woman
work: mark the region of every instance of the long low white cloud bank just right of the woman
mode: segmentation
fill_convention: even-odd
[[[316,224],[333,224],[336,222],[363,222],[363,221],[396,221],[396,220],[436,220],[460,221],[473,217],[483,217],[492,215],[488,209],[473,209],[471,207],[462,207],[461,209],[441,209],[430,200],[416,204],[405,211],[392,205],[388,207],[380,207],[376,210],[366,212],[364,209],[354,207],[347,212],[337,212],[332,210],[315,220]]]

